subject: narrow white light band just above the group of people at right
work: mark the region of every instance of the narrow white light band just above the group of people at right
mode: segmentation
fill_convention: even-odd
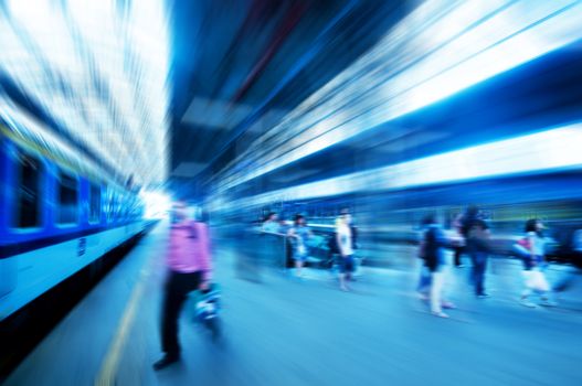
[[[219,210],[582,167],[582,124],[226,202]]]

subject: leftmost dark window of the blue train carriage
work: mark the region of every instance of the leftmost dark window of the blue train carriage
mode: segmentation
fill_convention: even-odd
[[[41,225],[41,162],[20,153],[14,227],[32,228]]]

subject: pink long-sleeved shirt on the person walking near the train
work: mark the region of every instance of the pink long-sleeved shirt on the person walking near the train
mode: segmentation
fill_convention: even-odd
[[[166,254],[168,267],[177,272],[203,272],[203,279],[211,278],[210,239],[204,223],[183,221],[172,224]]]

